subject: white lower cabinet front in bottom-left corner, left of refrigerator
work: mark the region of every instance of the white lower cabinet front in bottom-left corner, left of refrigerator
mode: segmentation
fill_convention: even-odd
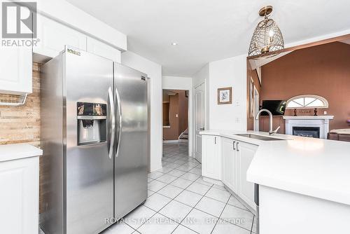
[[[38,233],[38,157],[0,163],[0,233]]]

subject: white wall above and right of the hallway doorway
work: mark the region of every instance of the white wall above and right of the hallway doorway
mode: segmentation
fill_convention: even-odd
[[[188,155],[193,156],[193,84],[191,77],[163,76],[163,90],[188,90]]]

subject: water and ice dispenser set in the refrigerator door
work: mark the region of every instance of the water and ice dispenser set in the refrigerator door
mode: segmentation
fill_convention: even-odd
[[[78,145],[106,142],[107,105],[77,102]]]

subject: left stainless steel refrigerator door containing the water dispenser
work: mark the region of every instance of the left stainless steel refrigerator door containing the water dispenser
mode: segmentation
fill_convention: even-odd
[[[113,219],[113,62],[69,48],[66,57],[66,233],[94,234]]]

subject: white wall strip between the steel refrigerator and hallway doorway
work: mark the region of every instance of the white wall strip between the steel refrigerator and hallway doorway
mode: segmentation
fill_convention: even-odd
[[[140,55],[122,53],[122,64],[147,74],[151,81],[151,156],[150,171],[162,167],[162,66]]]

